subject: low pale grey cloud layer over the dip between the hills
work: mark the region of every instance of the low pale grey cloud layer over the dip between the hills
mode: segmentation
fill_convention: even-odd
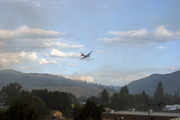
[[[154,73],[168,74],[175,72],[177,70],[180,70],[180,67],[176,67],[176,68],[147,67],[144,69],[129,70],[129,71],[112,70],[105,67],[95,70],[91,74],[88,73],[88,75],[94,78],[95,83],[124,86],[132,81],[139,80]],[[83,75],[86,74],[83,73]]]

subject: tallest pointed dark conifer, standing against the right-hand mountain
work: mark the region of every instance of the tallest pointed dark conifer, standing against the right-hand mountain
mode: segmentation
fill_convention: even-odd
[[[164,88],[161,81],[157,84],[156,91],[154,92],[154,100],[155,102],[164,101]]]

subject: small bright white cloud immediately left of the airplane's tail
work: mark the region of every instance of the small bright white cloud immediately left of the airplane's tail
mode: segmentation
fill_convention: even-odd
[[[80,54],[75,52],[65,53],[57,49],[52,49],[49,56],[61,57],[61,58],[78,58]]]

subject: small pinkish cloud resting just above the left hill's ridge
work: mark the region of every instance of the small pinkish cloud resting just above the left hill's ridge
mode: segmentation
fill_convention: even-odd
[[[94,82],[94,78],[91,76],[66,76],[68,79],[77,80],[77,81],[87,81]]]

